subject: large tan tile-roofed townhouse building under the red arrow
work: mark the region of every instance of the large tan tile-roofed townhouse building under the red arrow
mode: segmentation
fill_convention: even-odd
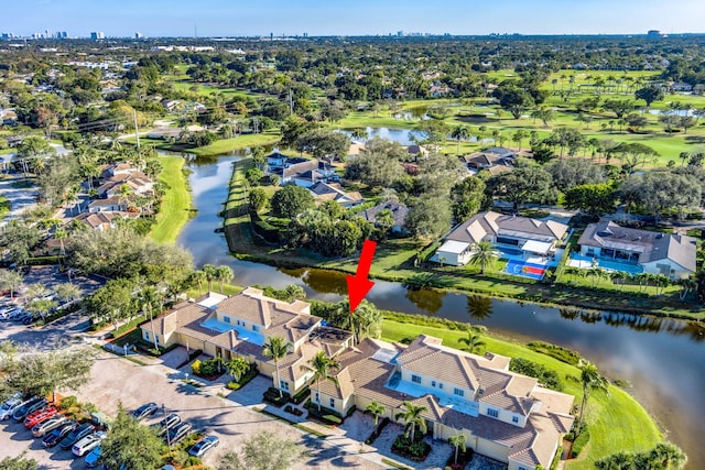
[[[574,420],[573,396],[510,372],[510,358],[470,354],[425,335],[408,347],[370,338],[351,345],[347,331],[323,326],[307,303],[288,304],[252,287],[230,297],[209,293],[183,302],[140,328],[144,340],[164,347],[180,343],[224,360],[247,358],[273,381],[275,367],[262,354],[263,345],[284,338],[290,352],[280,360],[275,387],[293,395],[311,386],[313,403],[341,416],[375,401],[384,406],[383,416],[397,420],[410,401],[426,407],[422,416],[434,438],[462,433],[469,448],[509,470],[549,468]],[[336,381],[322,381],[318,393],[307,363],[321,350],[340,367],[330,371]]]

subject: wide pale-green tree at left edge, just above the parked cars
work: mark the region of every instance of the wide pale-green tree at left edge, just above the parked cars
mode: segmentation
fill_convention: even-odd
[[[0,378],[0,395],[14,392],[46,396],[57,389],[77,390],[90,380],[95,352],[67,348],[57,343],[53,349],[17,348],[6,361]]]

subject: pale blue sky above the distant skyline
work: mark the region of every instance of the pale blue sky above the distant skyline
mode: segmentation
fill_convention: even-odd
[[[0,0],[0,32],[85,37],[705,32],[703,0]]]

